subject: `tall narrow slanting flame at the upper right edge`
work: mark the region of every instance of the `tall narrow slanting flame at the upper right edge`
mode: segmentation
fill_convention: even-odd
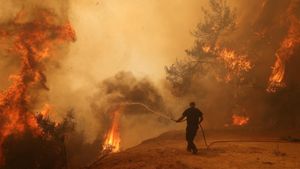
[[[294,5],[295,2],[291,3],[288,9],[288,21],[290,22],[290,26],[287,36],[283,39],[275,54],[276,61],[272,67],[272,73],[269,77],[267,87],[267,91],[270,93],[275,93],[279,88],[286,86],[284,81],[286,63],[293,55],[296,46],[300,44],[300,21],[297,19],[297,16],[293,14]]]

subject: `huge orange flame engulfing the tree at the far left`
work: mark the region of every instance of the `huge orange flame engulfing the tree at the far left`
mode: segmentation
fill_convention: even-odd
[[[74,41],[75,32],[69,23],[58,24],[57,16],[46,9],[36,9],[36,14],[26,16],[21,11],[17,17],[0,24],[1,41],[10,44],[8,52],[20,59],[18,73],[11,75],[11,85],[0,91],[0,165],[4,163],[2,144],[11,134],[25,130],[39,134],[30,93],[46,86],[45,60],[51,57],[54,47],[65,41]],[[1,46],[2,47],[2,46]],[[47,112],[46,109],[42,112]]]

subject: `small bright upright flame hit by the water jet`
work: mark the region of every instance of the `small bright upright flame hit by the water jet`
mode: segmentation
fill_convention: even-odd
[[[112,113],[112,123],[111,127],[105,135],[103,150],[108,150],[110,152],[120,151],[120,109]]]

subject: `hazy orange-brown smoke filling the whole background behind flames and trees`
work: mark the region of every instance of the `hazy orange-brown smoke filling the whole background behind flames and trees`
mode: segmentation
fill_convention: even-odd
[[[61,119],[73,109],[79,133],[73,136],[74,147],[100,149],[109,113],[123,102],[142,102],[168,116],[179,116],[187,103],[195,101],[210,128],[231,123],[232,114],[249,116],[254,127],[299,126],[299,45],[286,63],[287,87],[275,94],[266,92],[275,53],[290,26],[285,19],[287,10],[294,3],[293,14],[299,19],[298,1],[228,1],[237,11],[237,29],[220,41],[249,56],[254,64],[246,75],[250,83],[237,91],[235,85],[214,80],[210,72],[201,80],[195,79],[189,92],[180,98],[172,95],[171,86],[162,80],[164,66],[182,58],[184,50],[192,46],[190,32],[201,21],[201,7],[206,7],[206,0],[0,2],[1,23],[13,20],[20,11],[30,13],[27,19],[31,20],[35,15],[32,11],[40,8],[54,13],[58,23],[71,20],[77,41],[59,47],[54,56],[58,59],[46,61],[43,73],[47,83],[43,83],[49,90],[38,94],[33,90],[38,96],[32,109],[39,111],[48,102],[57,112],[51,115],[54,119]],[[20,61],[7,53],[11,43],[3,40],[2,27],[0,35],[0,89],[4,90],[11,84],[9,75],[18,71]],[[121,145],[128,148],[170,128],[175,127],[142,106],[127,105],[121,117]],[[84,150],[81,153],[88,154]]]

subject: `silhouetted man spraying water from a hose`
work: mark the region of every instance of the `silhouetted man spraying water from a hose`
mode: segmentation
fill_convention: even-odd
[[[187,141],[187,151],[197,154],[198,149],[194,144],[194,138],[197,134],[199,124],[203,121],[203,113],[196,108],[195,102],[190,103],[190,107],[186,109],[182,116],[176,120],[177,123],[184,121],[186,118],[186,141]]]

